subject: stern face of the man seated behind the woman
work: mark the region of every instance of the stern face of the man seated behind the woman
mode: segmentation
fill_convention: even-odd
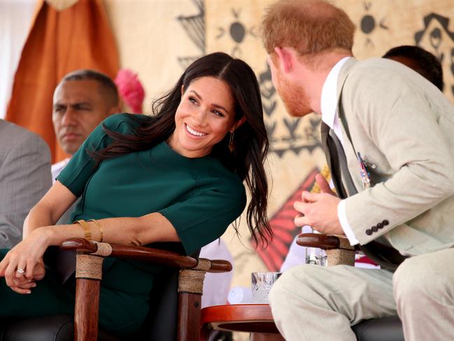
[[[76,153],[90,132],[115,112],[94,80],[65,81],[54,92],[52,123],[58,143],[66,153]]]

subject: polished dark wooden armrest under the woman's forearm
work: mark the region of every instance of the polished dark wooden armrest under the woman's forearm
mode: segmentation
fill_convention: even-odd
[[[76,250],[77,253],[95,253],[98,251],[98,245],[89,242],[83,238],[71,238],[62,243],[61,248],[64,250]],[[130,246],[122,244],[110,244],[112,252],[109,256],[115,258],[126,258],[139,260],[148,263],[155,263],[168,267],[178,267],[180,269],[192,269],[199,264],[198,258],[183,256],[172,251],[152,249],[143,246]],[[232,264],[227,260],[209,260],[210,267],[206,272],[229,272],[232,270]]]

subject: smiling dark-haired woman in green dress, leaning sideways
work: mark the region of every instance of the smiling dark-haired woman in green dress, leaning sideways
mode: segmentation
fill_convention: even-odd
[[[185,253],[194,253],[242,213],[243,182],[253,238],[271,237],[263,167],[268,139],[248,64],[225,53],[201,57],[152,109],[152,116],[104,120],[31,209],[22,242],[0,251],[0,319],[73,313],[73,288],[45,273],[48,246],[85,237],[132,245],[180,242]],[[55,225],[78,197],[71,218],[80,223]],[[101,328],[136,332],[159,268],[107,258],[103,272]]]

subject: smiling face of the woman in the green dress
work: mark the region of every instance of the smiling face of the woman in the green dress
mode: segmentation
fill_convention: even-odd
[[[235,123],[234,97],[225,81],[211,76],[197,78],[182,89],[169,145],[187,158],[200,158],[211,153],[242,121]]]

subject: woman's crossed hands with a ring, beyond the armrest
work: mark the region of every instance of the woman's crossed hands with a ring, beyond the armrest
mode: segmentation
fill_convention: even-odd
[[[50,245],[49,240],[48,230],[39,228],[6,253],[0,262],[0,276],[5,277],[6,285],[13,291],[30,293],[36,281],[43,279],[45,268],[42,257]]]

